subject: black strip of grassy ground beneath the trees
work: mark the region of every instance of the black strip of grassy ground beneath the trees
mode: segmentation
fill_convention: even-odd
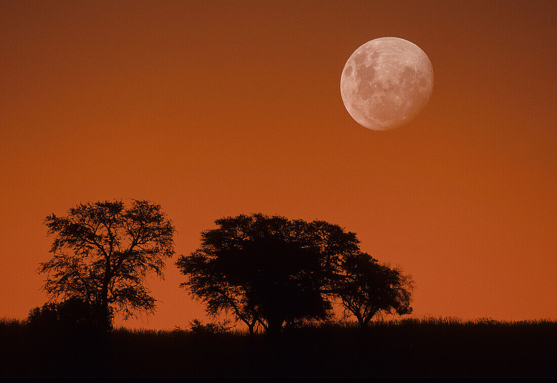
[[[0,376],[557,376],[557,322],[404,320],[361,331],[115,330],[108,338],[0,322]]]

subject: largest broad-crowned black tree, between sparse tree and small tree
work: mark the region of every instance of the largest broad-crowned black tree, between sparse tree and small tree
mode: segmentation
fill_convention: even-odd
[[[182,287],[216,316],[230,312],[253,333],[280,331],[286,322],[323,320],[338,284],[341,259],[359,251],[354,233],[323,221],[307,223],[263,214],[216,220],[202,245],[176,263]]]

